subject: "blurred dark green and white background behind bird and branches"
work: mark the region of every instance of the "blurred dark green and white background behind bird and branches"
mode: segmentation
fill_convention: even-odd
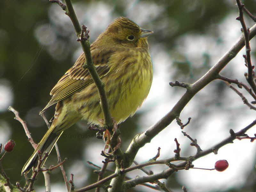
[[[170,87],[169,82],[194,83],[221,56],[227,52],[241,35],[240,22],[236,20],[238,9],[235,0],[169,0],[169,1],[84,1],[74,0],[74,8],[80,24],[90,29],[92,43],[108,24],[120,16],[134,20],[142,28],[154,31],[148,38],[154,67],[153,84],[148,98],[136,114],[120,125],[122,146],[125,150],[133,136],[147,130],[172,109],[185,92],[180,87]],[[254,0],[243,1],[256,14]],[[82,52],[76,42],[73,26],[57,5],[47,0],[18,1],[2,0],[0,6],[0,143],[12,139],[15,150],[3,159],[3,167],[12,183],[25,183],[20,176],[21,168],[32,154],[33,148],[27,141],[21,124],[14,120],[14,114],[7,110],[13,106],[20,117],[27,122],[36,142],[46,132],[46,125],[38,115],[50,100],[49,92],[59,78],[70,68]],[[245,16],[247,27],[254,23]],[[252,63],[255,63],[255,40],[251,41]],[[246,83],[242,54],[233,59],[221,75]],[[241,90],[249,101],[252,98]],[[53,116],[54,107],[47,110],[48,119]],[[185,127],[192,138],[198,140],[201,148],[208,149],[228,137],[229,129],[238,131],[255,119],[255,111],[246,107],[241,98],[226,84],[216,80],[201,90],[181,113],[183,123],[192,117]],[[248,134],[253,136],[255,128]],[[140,149],[136,161],[142,163],[154,157],[161,148],[164,159],[174,156],[174,138],[181,146],[181,156],[194,155],[196,149],[173,122],[151,143]],[[95,132],[88,130],[86,122],[78,122],[68,129],[58,141],[68,176],[73,173],[75,187],[80,188],[97,180],[95,167],[87,160],[102,166],[100,156],[102,140]],[[224,172],[193,170],[179,171],[168,180],[168,188],[181,191],[185,185],[189,192],[251,192],[256,191],[255,142],[235,141],[219,150],[193,162],[195,167],[213,168],[219,159],[226,159],[229,168]],[[2,152],[3,154],[3,152]],[[48,158],[48,166],[57,164],[55,150]],[[113,169],[110,165],[109,168]],[[159,173],[166,166],[151,166],[147,169]],[[145,175],[133,171],[130,177]],[[60,169],[52,171],[52,190],[65,191]],[[44,180],[40,174],[35,189],[44,191]],[[127,191],[155,191],[136,186]]]

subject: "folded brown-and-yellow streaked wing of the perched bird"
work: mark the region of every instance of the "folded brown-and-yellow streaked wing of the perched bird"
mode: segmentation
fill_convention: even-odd
[[[94,49],[91,51],[92,60],[96,71],[100,78],[106,76],[109,72],[108,60],[113,53],[111,50]],[[76,60],[74,66],[70,68],[64,76],[60,78],[58,83],[53,87],[50,95],[52,99],[40,112],[42,114],[47,108],[67,98],[68,96],[84,89],[93,82],[88,69],[84,69],[82,65],[85,62],[84,53],[82,53]]]

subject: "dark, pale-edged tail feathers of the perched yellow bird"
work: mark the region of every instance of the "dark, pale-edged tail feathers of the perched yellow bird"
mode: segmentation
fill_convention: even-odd
[[[42,140],[38,143],[34,153],[30,156],[24,167],[22,168],[21,174],[28,172],[33,166],[37,164],[38,161],[38,151],[41,152],[42,157],[44,156],[44,153],[47,152],[48,154],[51,153],[53,146],[57,142],[57,140],[60,138],[60,135],[63,131],[56,132],[55,126],[52,125],[50,129],[45,133]],[[44,159],[45,162],[46,158]],[[44,162],[41,166],[44,165]]]

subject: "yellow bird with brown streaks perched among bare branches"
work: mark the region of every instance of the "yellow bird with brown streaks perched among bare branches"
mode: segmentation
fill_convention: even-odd
[[[105,83],[109,111],[117,124],[135,113],[151,87],[153,69],[147,41],[151,33],[121,17],[91,45],[93,64]],[[62,132],[78,120],[102,125],[98,91],[88,70],[82,67],[84,62],[82,53],[50,92],[52,99],[41,113],[57,103],[51,128],[24,165],[22,173],[36,165],[38,151],[50,153]]]

